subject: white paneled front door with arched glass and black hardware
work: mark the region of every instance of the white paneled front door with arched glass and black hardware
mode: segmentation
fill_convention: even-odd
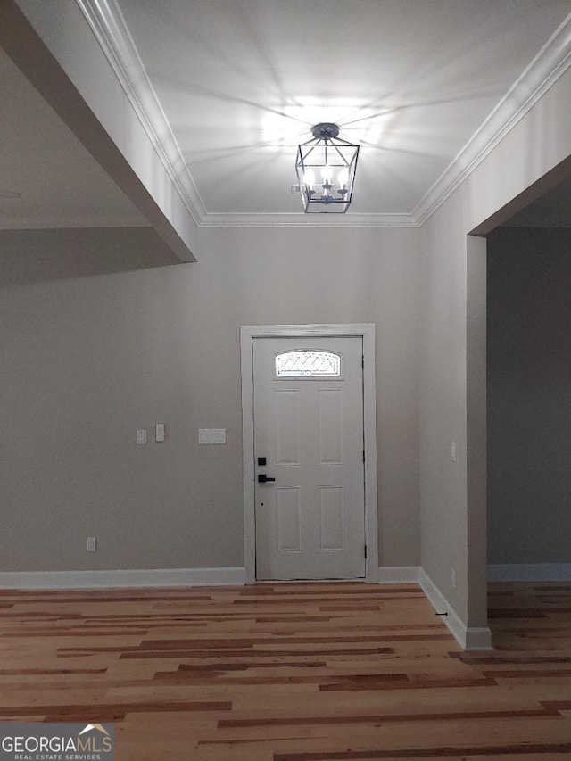
[[[365,576],[362,355],[360,336],[253,339],[259,580]]]

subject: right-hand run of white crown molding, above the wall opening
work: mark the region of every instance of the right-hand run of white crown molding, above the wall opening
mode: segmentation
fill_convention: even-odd
[[[423,225],[571,65],[571,13],[418,203]]]

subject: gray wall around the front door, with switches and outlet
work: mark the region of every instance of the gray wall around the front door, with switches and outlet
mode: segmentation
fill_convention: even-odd
[[[377,325],[381,564],[418,565],[419,231],[203,229],[138,270],[125,239],[95,274],[98,235],[0,236],[0,570],[243,566],[239,326],[328,322]]]

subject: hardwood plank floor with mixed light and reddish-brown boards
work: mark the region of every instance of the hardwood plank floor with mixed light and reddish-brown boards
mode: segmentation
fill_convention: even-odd
[[[0,722],[118,761],[571,758],[571,584],[492,584],[462,652],[415,584],[0,591]]]

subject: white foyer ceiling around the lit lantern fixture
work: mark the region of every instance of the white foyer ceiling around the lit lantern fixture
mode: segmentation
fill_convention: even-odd
[[[206,211],[287,214],[319,121],[361,145],[352,213],[412,214],[568,0],[119,0]],[[256,221],[256,219],[254,219]]]

